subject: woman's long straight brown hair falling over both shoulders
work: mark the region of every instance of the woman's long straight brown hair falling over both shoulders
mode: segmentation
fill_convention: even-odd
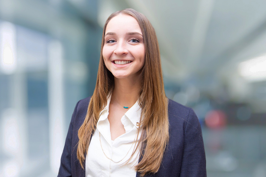
[[[113,91],[114,76],[104,65],[102,51],[106,26],[118,14],[126,14],[134,17],[138,21],[144,38],[145,63],[141,73],[142,88],[138,100],[142,108],[141,119],[143,117],[139,126],[143,130],[134,151],[135,153],[136,149],[141,147],[140,153],[142,159],[135,166],[135,169],[144,176],[146,173],[156,173],[163,159],[163,152],[169,139],[168,100],[163,88],[160,51],[155,30],[142,13],[133,9],[114,12],[108,17],[103,27],[97,82],[88,106],[87,115],[78,130],[77,157],[83,167],[91,135],[96,129],[99,113],[107,104],[108,94]]]

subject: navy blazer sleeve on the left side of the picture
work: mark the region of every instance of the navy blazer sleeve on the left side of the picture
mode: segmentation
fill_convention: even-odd
[[[79,103],[79,101],[78,101]],[[75,106],[74,112],[72,114],[72,118],[70,121],[70,125],[68,128],[68,134],[64,146],[64,150],[61,156],[61,163],[59,167],[59,172],[57,177],[72,177],[71,173],[71,146],[72,146],[72,135],[73,135],[73,125],[74,121],[76,119],[76,114],[77,114],[77,107],[78,103]]]

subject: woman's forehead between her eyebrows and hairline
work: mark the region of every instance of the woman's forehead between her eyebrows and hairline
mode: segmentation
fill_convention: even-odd
[[[108,32],[114,32],[114,33],[138,32],[142,34],[141,28],[137,20],[134,17],[125,14],[118,14],[108,22],[105,29],[105,34]]]

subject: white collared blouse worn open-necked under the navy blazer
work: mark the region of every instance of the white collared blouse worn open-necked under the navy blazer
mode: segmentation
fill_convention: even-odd
[[[134,139],[136,139],[137,124],[141,116],[141,107],[138,105],[137,101],[128,109],[121,118],[126,133],[120,135],[115,140],[111,140],[110,124],[108,120],[110,100],[111,96],[108,97],[107,105],[100,112],[97,127],[88,148],[85,164],[86,177],[136,177],[134,166],[138,163],[139,148],[132,160],[130,160],[130,162],[132,162],[131,164],[125,164],[124,162],[132,155],[135,142],[138,143],[141,136],[140,129],[138,140],[133,142]],[[114,163],[104,155],[103,151],[108,158],[116,162],[125,158],[119,163]]]

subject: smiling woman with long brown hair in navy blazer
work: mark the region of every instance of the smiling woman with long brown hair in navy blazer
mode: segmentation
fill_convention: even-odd
[[[75,107],[58,176],[206,176],[198,118],[165,96],[155,31],[133,9],[104,25],[96,87]]]

